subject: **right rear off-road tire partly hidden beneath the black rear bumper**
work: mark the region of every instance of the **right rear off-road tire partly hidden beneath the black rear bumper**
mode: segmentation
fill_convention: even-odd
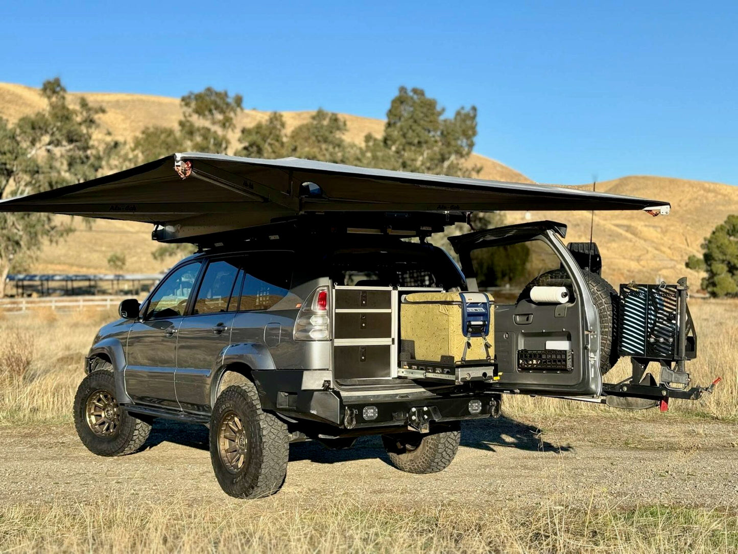
[[[390,462],[407,473],[438,473],[448,468],[461,441],[461,428],[452,425],[431,434],[382,435]]]

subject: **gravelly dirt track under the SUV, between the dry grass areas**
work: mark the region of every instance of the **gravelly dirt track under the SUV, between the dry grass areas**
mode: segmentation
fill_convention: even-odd
[[[399,505],[738,503],[735,423],[669,414],[562,417],[542,432],[534,423],[506,417],[466,423],[452,465],[426,476],[391,467],[376,437],[346,451],[297,443],[279,496],[300,505],[344,496]],[[226,499],[210,468],[203,426],[157,420],[145,450],[121,458],[86,451],[72,425],[0,428],[0,502],[66,504],[111,489],[151,502]]]

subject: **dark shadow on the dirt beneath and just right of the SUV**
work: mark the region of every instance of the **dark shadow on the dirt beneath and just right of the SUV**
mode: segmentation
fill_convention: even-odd
[[[162,442],[173,442],[199,450],[208,449],[208,430],[204,425],[193,425],[171,420],[154,421],[151,435],[143,448],[154,448]],[[497,420],[475,420],[462,423],[461,446],[489,452],[499,448],[517,448],[531,452],[568,452],[569,445],[543,440],[541,431],[533,425],[520,423],[508,417]],[[356,459],[378,458],[389,463],[379,435],[359,437],[353,448],[330,450],[317,441],[296,442],[289,449],[289,461],[310,460],[321,464],[350,462]]]

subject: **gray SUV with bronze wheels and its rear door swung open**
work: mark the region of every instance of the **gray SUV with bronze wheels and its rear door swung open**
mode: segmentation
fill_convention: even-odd
[[[567,247],[565,231],[538,222],[453,237],[460,265],[423,233],[409,242],[287,225],[212,244],[100,329],[75,398],[77,432],[90,451],[117,456],[142,448],[156,417],[203,423],[223,490],[257,498],[283,484],[290,442],[348,448],[380,434],[393,465],[432,473],[452,462],[461,421],[497,416],[503,394],[628,408],[698,397],[672,386],[688,378],[666,354],[661,383],[641,380],[645,352],[633,358],[635,386],[603,383],[621,355],[623,299],[599,276],[596,245]],[[499,280],[489,260],[511,259],[523,260],[527,284],[490,303],[494,356],[418,360],[402,331],[407,298],[477,290]],[[566,298],[541,300],[534,287]]]

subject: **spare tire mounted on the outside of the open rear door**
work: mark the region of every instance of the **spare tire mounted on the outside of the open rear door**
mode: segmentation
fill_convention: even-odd
[[[590,289],[600,322],[600,373],[606,374],[618,361],[618,309],[620,297],[613,285],[597,273],[582,270],[582,276]],[[541,273],[525,285],[517,301],[531,298],[533,287],[567,287],[573,293],[572,281],[567,270],[558,269]]]

